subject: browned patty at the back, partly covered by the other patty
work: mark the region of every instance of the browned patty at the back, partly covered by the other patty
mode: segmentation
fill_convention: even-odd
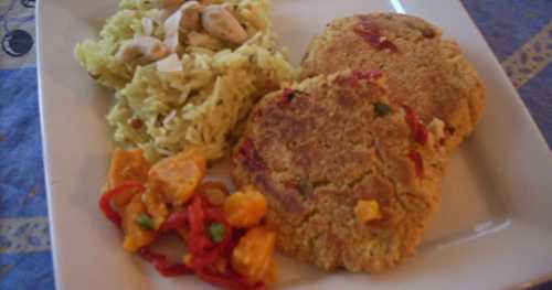
[[[446,123],[446,146],[456,148],[478,122],[485,90],[458,45],[439,29],[396,13],[342,18],[315,36],[302,61],[310,77],[340,69],[381,69],[390,98],[411,106],[422,120]]]

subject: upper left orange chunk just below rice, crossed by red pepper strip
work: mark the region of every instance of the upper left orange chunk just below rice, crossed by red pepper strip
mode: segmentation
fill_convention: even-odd
[[[150,164],[144,157],[141,149],[132,149],[125,151],[116,148],[112,155],[112,164],[109,167],[109,187],[115,189],[120,184],[129,181],[145,183],[148,180],[148,171]],[[125,206],[130,202],[131,192],[119,194],[114,197],[113,202],[117,207]]]

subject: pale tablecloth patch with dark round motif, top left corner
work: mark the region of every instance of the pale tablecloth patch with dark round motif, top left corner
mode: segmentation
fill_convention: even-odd
[[[34,66],[35,0],[0,2],[0,68]]]

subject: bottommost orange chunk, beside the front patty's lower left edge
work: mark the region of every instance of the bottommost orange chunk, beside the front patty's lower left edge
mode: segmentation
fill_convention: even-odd
[[[250,229],[232,251],[232,267],[247,281],[263,281],[273,262],[276,233],[261,226]]]

